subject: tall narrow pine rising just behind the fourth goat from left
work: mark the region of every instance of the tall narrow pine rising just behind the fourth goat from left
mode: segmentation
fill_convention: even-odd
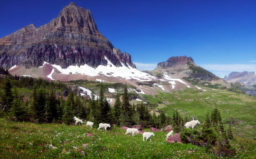
[[[131,126],[133,124],[132,123],[132,114],[131,114],[131,105],[129,103],[129,97],[128,97],[128,91],[127,91],[126,84],[125,84],[125,87],[123,90],[122,108],[123,108],[125,125]]]

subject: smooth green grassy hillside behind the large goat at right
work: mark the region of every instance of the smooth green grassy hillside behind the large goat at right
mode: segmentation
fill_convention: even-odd
[[[232,130],[236,136],[256,138],[256,97],[222,89],[205,89],[207,91],[186,89],[159,93],[154,97],[145,96],[151,103],[158,105],[155,109],[164,110],[168,115],[172,115],[173,110],[178,109],[181,114],[185,115],[184,112],[187,112],[200,121],[203,121],[207,111],[211,112],[217,107],[220,109],[224,124],[228,126],[233,123]]]

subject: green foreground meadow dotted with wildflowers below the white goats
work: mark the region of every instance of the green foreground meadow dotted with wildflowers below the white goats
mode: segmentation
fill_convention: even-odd
[[[155,132],[152,142],[142,135],[124,135],[125,130],[112,127],[105,131],[85,125],[35,124],[0,119],[0,158],[216,158],[204,147],[192,144],[165,143],[167,132]],[[146,131],[146,129],[144,130]],[[149,130],[148,130],[149,131]],[[92,133],[89,137],[86,133]],[[88,149],[82,147],[87,144]],[[56,147],[52,148],[52,145]],[[233,144],[235,158],[256,156],[256,144]]]

